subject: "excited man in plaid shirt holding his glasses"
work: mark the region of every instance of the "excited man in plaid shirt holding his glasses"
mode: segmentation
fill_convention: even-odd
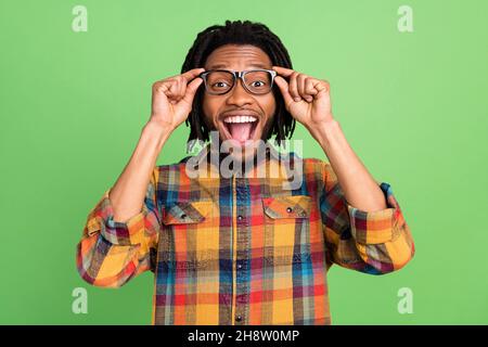
[[[218,138],[156,166],[187,119],[190,140]],[[259,155],[260,140],[285,141],[295,120],[330,163]],[[77,266],[106,287],[153,271],[154,324],[330,324],[333,264],[383,274],[413,254],[389,184],[371,177],[333,118],[329,83],[293,70],[265,25],[227,21],[198,34],[181,75],[153,85],[151,118],[90,211]]]

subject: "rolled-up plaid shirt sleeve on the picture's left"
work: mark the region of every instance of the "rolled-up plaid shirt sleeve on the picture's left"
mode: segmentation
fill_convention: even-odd
[[[81,278],[90,284],[119,287],[133,277],[154,271],[160,231],[156,204],[158,169],[152,172],[141,211],[125,222],[114,221],[108,189],[89,213],[76,262]]]

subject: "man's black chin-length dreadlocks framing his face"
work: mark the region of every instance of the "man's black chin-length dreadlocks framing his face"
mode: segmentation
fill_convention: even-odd
[[[192,69],[202,67],[217,48],[224,44],[252,44],[260,48],[277,66],[293,68],[286,48],[280,38],[261,23],[253,23],[249,21],[226,21],[226,25],[213,25],[205,30],[198,33],[192,48],[188,51],[184,63],[181,67],[181,74]],[[209,130],[204,121],[203,97],[205,88],[198,88],[193,100],[192,111],[185,120],[187,126],[190,125],[189,142],[194,140],[208,141]],[[285,110],[283,97],[277,85],[272,90],[277,102],[273,124],[271,125],[266,139],[274,136],[278,145],[282,140],[291,138],[295,130],[295,119]]]

